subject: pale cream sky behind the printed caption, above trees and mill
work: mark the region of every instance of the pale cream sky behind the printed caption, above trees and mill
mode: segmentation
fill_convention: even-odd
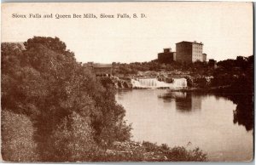
[[[56,14],[95,14],[97,19],[55,19]],[[146,18],[101,19],[100,14]],[[2,42],[24,42],[33,36],[59,37],[83,63],[150,61],[163,48],[175,51],[181,41],[202,42],[207,60],[235,59],[253,54],[253,3],[3,3]]]

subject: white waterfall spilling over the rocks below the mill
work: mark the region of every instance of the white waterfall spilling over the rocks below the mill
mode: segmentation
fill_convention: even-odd
[[[173,83],[160,82],[156,78],[131,79],[133,88],[184,88],[187,87],[186,78],[174,78]]]

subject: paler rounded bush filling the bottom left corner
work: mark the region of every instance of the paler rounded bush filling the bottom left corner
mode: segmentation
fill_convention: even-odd
[[[35,128],[30,118],[3,110],[1,121],[3,161],[36,161],[38,159],[37,144],[33,140]]]

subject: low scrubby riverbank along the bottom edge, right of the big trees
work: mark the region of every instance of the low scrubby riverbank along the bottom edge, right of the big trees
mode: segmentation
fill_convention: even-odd
[[[99,154],[94,161],[107,162],[206,162],[207,154],[199,148],[189,150],[183,146],[173,148],[150,142],[113,142],[108,150]]]

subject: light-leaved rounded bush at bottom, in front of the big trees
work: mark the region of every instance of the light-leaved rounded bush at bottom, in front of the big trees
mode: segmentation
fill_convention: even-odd
[[[90,161],[97,146],[88,119],[73,112],[55,128],[50,141],[53,142],[54,161]]]

